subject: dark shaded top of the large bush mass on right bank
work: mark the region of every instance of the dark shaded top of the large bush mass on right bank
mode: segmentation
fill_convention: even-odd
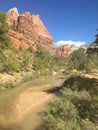
[[[73,91],[83,91],[86,90],[90,95],[98,95],[98,82],[96,79],[87,78],[81,75],[72,75],[67,80],[64,81],[63,86],[70,88]]]

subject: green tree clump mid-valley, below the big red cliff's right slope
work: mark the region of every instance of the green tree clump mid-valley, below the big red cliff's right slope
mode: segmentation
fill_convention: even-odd
[[[33,66],[36,70],[49,71],[58,70],[60,66],[64,66],[64,61],[57,56],[52,56],[48,51],[42,47],[38,47],[38,51],[34,53]]]

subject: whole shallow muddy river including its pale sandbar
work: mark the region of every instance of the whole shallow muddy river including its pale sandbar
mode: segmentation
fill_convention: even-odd
[[[46,102],[55,97],[50,89],[62,85],[64,79],[40,77],[0,95],[0,130],[36,130]]]

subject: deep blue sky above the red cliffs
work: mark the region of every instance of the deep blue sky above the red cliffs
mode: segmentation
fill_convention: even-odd
[[[0,10],[39,14],[56,44],[90,43],[98,28],[98,0],[0,0]]]

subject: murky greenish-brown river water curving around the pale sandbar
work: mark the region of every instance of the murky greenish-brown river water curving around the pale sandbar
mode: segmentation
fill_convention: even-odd
[[[36,127],[41,124],[40,113],[47,109],[45,102],[48,100],[41,102],[42,99],[38,99],[39,102],[41,102],[39,105],[35,105],[32,109],[30,108],[25,114],[21,112],[21,118],[14,122],[17,118],[17,112],[15,113],[14,108],[19,95],[26,92],[28,89],[45,91],[50,87],[60,86],[63,80],[52,77],[41,77],[1,94],[0,130],[36,130]]]

